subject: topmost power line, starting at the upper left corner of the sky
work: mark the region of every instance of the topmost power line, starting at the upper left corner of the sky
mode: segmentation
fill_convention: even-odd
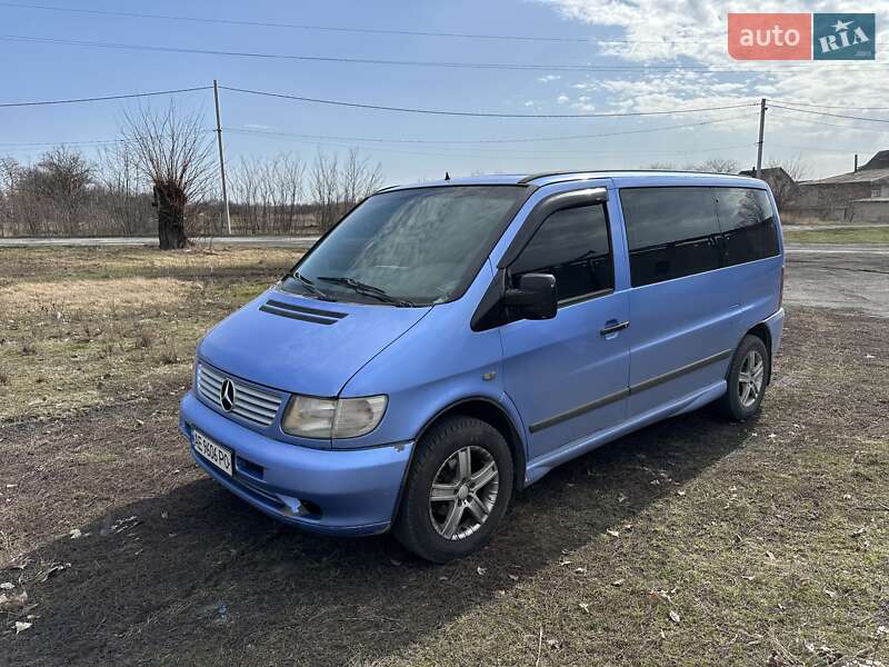
[[[283,28],[293,30],[309,30],[319,32],[341,32],[347,34],[389,34],[406,37],[442,37],[477,40],[496,41],[522,41],[522,42],[567,42],[567,43],[599,43],[599,44],[677,44],[697,43],[698,40],[625,40],[625,39],[598,39],[592,37],[546,37],[530,34],[483,34],[467,32],[439,32],[431,30],[393,30],[382,28],[342,28],[338,26],[314,26],[307,23],[281,23],[277,21],[251,21],[246,19],[210,19],[206,17],[183,17],[172,14],[156,14],[131,11],[110,11],[100,9],[81,9],[72,7],[54,7],[47,4],[27,4],[23,2],[0,2],[0,7],[13,7],[18,9],[37,9],[43,11],[60,11],[67,13],[79,13],[90,16],[122,17],[131,19],[152,19],[164,21],[188,21],[193,23],[206,23],[213,26],[248,26],[252,28]]]

